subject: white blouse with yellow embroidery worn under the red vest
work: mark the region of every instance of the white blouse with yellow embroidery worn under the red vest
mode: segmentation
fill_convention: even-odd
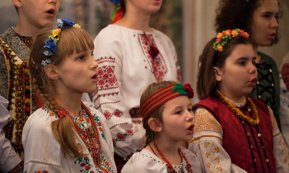
[[[236,107],[242,107],[246,104],[246,99],[244,98],[241,103],[236,103],[232,100],[230,102]],[[279,131],[272,109],[269,106],[267,107],[271,116],[273,129],[273,153],[276,161],[276,172],[288,172],[289,150]],[[230,156],[222,147],[223,129],[214,116],[208,110],[201,107],[194,111],[194,115],[196,121],[194,138],[189,142],[188,149],[197,155],[202,169],[205,169],[206,172],[246,172],[231,163]],[[210,147],[206,147],[208,144]],[[213,151],[211,151],[211,148],[214,148]],[[208,157],[208,154],[212,152],[213,157]]]

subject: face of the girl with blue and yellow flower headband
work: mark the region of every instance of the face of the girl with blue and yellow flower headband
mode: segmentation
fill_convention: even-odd
[[[96,90],[98,63],[92,57],[93,49],[73,53],[58,66],[59,90],[68,93],[92,93]]]

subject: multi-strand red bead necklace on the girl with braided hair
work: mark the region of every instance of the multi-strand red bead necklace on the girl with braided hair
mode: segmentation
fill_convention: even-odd
[[[93,157],[93,159],[96,160],[97,157],[99,157],[100,151],[101,151],[101,143],[99,141],[98,131],[95,130],[95,129],[97,129],[97,125],[95,123],[95,120],[93,119],[93,115],[90,113],[88,108],[82,102],[81,102],[81,107],[87,112],[88,117],[89,117],[90,122],[91,122],[91,126],[88,125],[88,128],[86,130],[83,130],[78,126],[77,123],[73,123],[73,124],[74,124],[75,130],[76,130],[78,136],[84,142],[86,147],[91,148],[91,150],[94,151],[94,153],[96,153],[95,155],[90,153],[90,155]],[[62,116],[70,116],[70,115],[66,109],[60,108],[60,110],[58,112],[58,116],[61,118]],[[72,116],[70,116],[70,117],[73,120],[73,117]],[[87,140],[88,138],[90,140]],[[87,141],[91,141],[91,142],[87,142]],[[96,144],[96,142],[97,142],[97,144]]]

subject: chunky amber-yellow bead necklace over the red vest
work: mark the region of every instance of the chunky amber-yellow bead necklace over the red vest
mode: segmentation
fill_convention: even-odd
[[[248,97],[248,96],[245,96],[246,97],[246,100],[247,102],[249,103],[249,107],[251,110],[253,110],[252,112],[252,118],[250,116],[247,116],[245,115],[242,111],[240,111],[238,108],[236,108],[230,101],[229,99],[227,99],[225,97],[225,95],[223,95],[223,93],[221,93],[220,90],[217,90],[216,91],[216,95],[218,96],[218,98],[223,102],[225,103],[228,108],[234,112],[234,114],[239,117],[240,119],[242,119],[243,121],[247,121],[248,123],[250,123],[251,125],[256,125],[256,124],[259,124],[260,122],[260,117],[259,117],[259,113],[258,113],[258,110],[255,106],[255,104],[253,103],[253,101]]]

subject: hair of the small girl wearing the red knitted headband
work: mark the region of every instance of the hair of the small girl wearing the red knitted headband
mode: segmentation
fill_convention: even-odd
[[[140,104],[142,104],[142,102],[144,100],[146,100],[150,95],[152,95],[153,93],[157,92],[158,90],[169,86],[169,85],[173,85],[176,84],[178,82],[175,81],[161,81],[161,82],[154,82],[152,84],[150,84],[149,86],[147,86],[147,88],[144,90],[144,92],[142,93],[141,97],[140,97]],[[157,119],[160,123],[162,123],[162,112],[164,110],[164,105],[159,106],[158,108],[156,108],[155,110],[153,110],[153,112],[151,112],[147,118],[145,119],[145,121],[143,122],[143,127],[146,131],[145,133],[145,146],[149,145],[149,143],[153,142],[155,140],[155,138],[157,137],[157,133],[155,131],[153,131],[148,124],[148,121],[150,118],[155,118]]]

